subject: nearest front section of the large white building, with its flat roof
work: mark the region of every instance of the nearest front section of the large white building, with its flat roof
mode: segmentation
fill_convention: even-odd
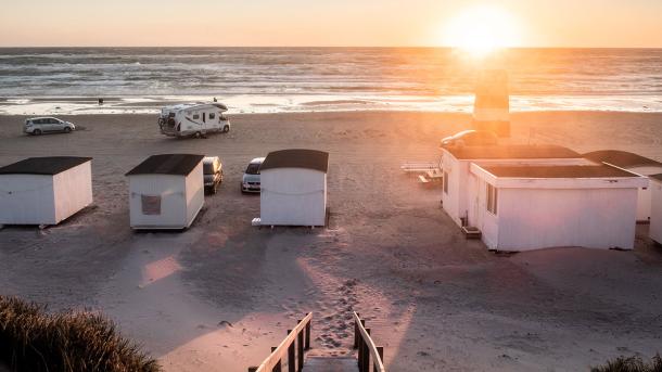
[[[488,248],[632,249],[648,178],[608,165],[471,165],[469,225]]]

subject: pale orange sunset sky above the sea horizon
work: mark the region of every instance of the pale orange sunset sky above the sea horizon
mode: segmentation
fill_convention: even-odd
[[[510,47],[662,48],[662,0],[0,1],[0,47],[448,46],[489,7]]]

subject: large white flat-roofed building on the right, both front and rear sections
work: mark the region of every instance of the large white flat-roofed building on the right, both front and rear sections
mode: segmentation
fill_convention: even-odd
[[[645,177],[550,145],[447,147],[442,162],[444,209],[491,249],[633,247]]]

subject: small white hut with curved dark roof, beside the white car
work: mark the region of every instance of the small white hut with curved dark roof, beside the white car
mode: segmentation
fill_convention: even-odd
[[[329,154],[281,150],[267,155],[260,172],[260,225],[324,226]]]

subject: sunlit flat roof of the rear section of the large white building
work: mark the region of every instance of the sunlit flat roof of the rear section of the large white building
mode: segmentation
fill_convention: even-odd
[[[563,146],[548,144],[506,144],[489,146],[445,147],[459,159],[502,158],[581,158],[582,155]]]

